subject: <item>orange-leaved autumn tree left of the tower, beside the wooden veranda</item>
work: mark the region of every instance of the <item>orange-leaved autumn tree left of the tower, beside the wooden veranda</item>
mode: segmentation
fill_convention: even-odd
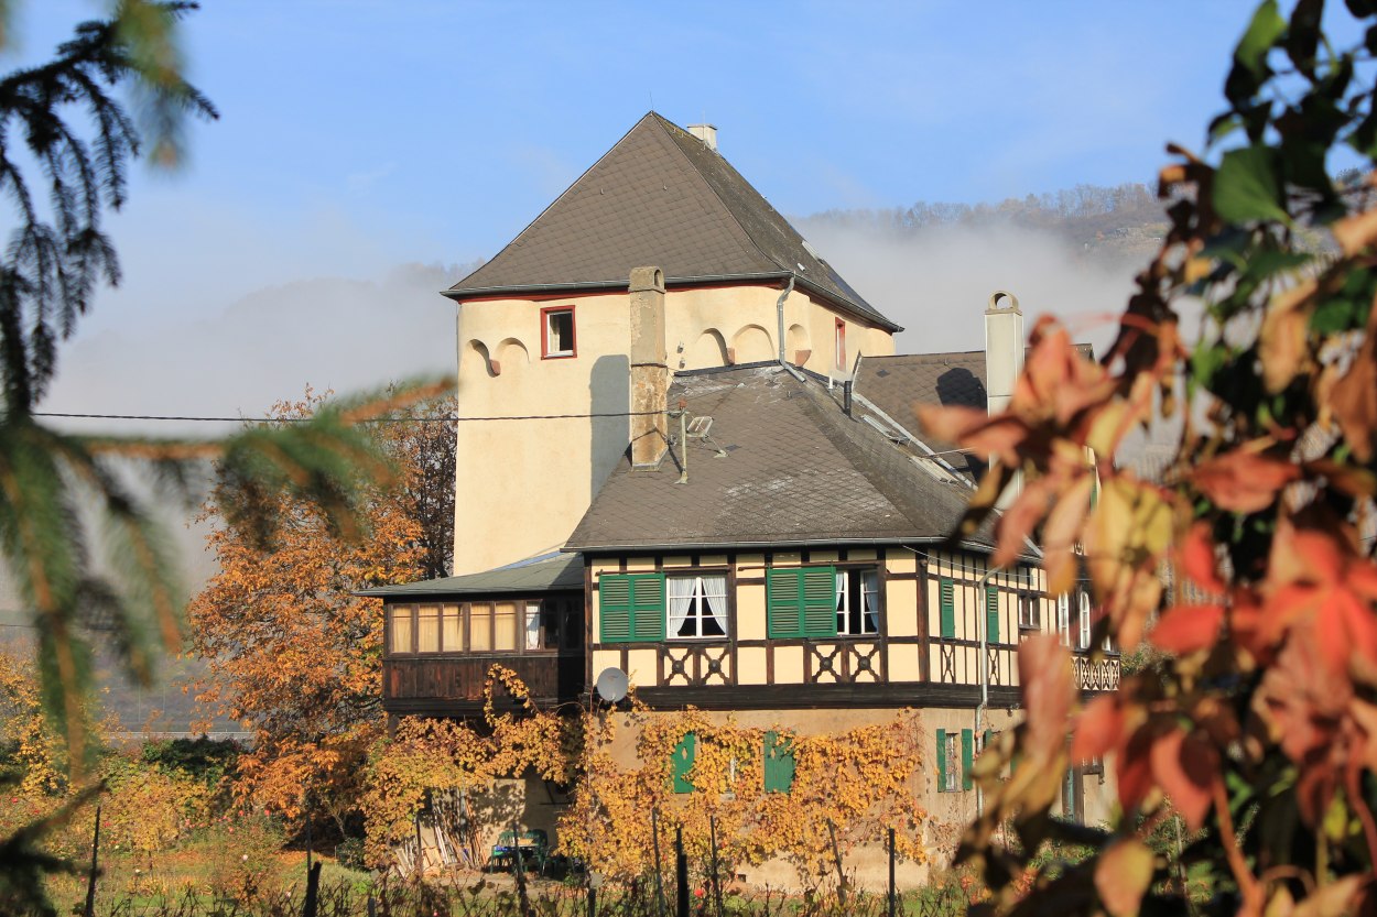
[[[282,425],[302,423],[319,405],[307,394],[274,414]],[[443,503],[435,470],[452,452],[448,460],[431,453],[437,442],[449,446],[449,424],[425,419],[443,421],[449,405],[413,405],[370,427],[398,465],[399,486],[358,496],[366,538],[346,537],[307,500],[234,475],[222,476],[207,507],[219,573],[190,606],[191,647],[209,662],[204,699],[255,734],[237,789],[271,811],[296,816],[310,793],[344,830],[357,808],[361,764],[383,727],[383,614],[377,599],[354,592],[427,574],[443,537],[427,530]],[[453,478],[448,486],[452,493]],[[281,519],[266,544],[245,523],[244,507],[255,501],[269,501]]]

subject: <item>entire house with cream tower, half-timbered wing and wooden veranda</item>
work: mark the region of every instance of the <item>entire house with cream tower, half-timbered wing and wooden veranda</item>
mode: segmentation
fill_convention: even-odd
[[[1117,686],[1089,596],[1047,596],[1036,545],[996,570],[987,529],[949,540],[982,468],[913,420],[1008,398],[1012,296],[983,351],[895,355],[896,325],[715,131],[657,114],[449,295],[460,414],[530,419],[460,424],[457,576],[368,592],[390,715],[478,713],[492,662],[540,704],[620,671],[654,710],[796,732],[913,708],[936,767],[912,793],[957,823],[980,744],[1019,716],[1020,639],[1059,632],[1084,690]],[[1070,771],[1063,811],[1104,819],[1103,779]],[[527,800],[552,832],[559,800]]]

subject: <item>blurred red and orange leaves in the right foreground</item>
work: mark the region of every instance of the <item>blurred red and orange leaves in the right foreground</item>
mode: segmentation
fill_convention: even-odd
[[[1377,906],[1377,4],[1345,7],[1354,47],[1323,34],[1344,12],[1322,0],[1257,7],[1209,147],[1169,147],[1169,230],[1100,363],[1042,319],[1005,413],[920,412],[994,463],[965,530],[1022,472],[996,563],[1038,531],[1049,591],[1093,587],[1092,646],[1165,653],[1082,704],[1066,650],[1020,647],[1027,720],[982,756],[986,808],[958,852],[1001,913]],[[1366,179],[1333,182],[1345,160]],[[1117,467],[1125,434],[1161,416],[1180,417],[1165,476]],[[1066,767],[1102,756],[1121,814],[1051,818]],[[1177,818],[1194,840],[1154,852]],[[1091,856],[1040,867],[1055,841]],[[1187,876],[1203,889],[1190,905]]]

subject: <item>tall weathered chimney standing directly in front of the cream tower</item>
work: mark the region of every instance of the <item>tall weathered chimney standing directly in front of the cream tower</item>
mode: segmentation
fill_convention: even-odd
[[[665,273],[631,271],[631,465],[655,468],[669,445],[665,357]]]

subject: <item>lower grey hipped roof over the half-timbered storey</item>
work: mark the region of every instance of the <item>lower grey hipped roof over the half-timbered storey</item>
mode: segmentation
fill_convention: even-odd
[[[676,483],[679,446],[657,471],[624,458],[565,549],[945,540],[969,486],[847,417],[840,394],[775,363],[680,373],[669,403],[713,419],[713,443],[688,443],[688,482]],[[726,457],[715,456],[719,446]],[[972,544],[989,547],[987,533]]]

